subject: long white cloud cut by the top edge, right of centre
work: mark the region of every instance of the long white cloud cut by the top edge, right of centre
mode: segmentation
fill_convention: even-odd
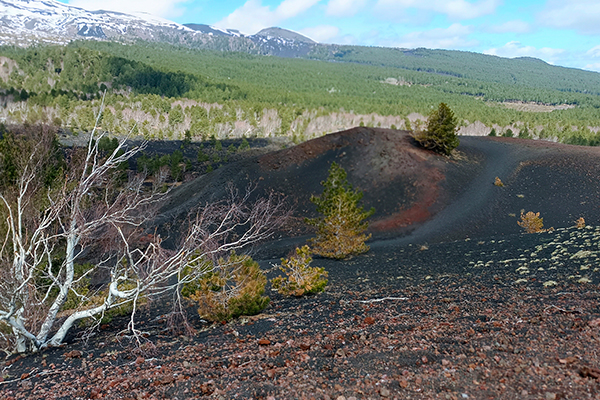
[[[466,0],[378,0],[375,7],[391,15],[417,9],[446,14],[453,20],[465,20],[492,14],[499,4],[500,0],[481,0],[473,3]]]

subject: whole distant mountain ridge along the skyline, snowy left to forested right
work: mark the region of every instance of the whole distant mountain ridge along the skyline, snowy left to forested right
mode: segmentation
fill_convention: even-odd
[[[382,80],[389,77],[402,80],[402,70],[410,70],[486,82],[485,85],[491,82],[600,95],[598,73],[553,66],[531,57],[507,59],[454,50],[320,44],[278,27],[246,35],[206,24],[181,25],[144,13],[88,11],[55,0],[0,0],[0,45],[66,44],[78,39],[124,43],[142,40],[192,49],[367,64],[397,70],[389,72],[397,75],[383,76]],[[464,94],[480,96],[485,87],[479,86],[474,82],[465,84]]]

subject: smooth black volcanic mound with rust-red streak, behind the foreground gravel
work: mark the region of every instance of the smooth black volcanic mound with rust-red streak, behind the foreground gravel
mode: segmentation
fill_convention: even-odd
[[[223,198],[231,184],[253,196],[282,193],[295,207],[282,236],[310,234],[310,196],[322,192],[332,162],[375,207],[375,245],[433,243],[518,233],[521,211],[540,212],[545,227],[579,217],[600,220],[600,149],[513,138],[461,137],[451,158],[420,148],[406,131],[354,128],[226,165],[177,188],[159,224],[179,229],[194,207]],[[499,177],[504,186],[494,185]],[[173,230],[171,235],[176,233]],[[289,243],[288,243],[289,244]],[[282,244],[283,246],[283,244]]]

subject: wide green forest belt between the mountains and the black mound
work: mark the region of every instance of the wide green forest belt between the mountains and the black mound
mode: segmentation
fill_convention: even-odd
[[[310,57],[145,42],[4,47],[0,120],[77,134],[106,93],[101,127],[115,135],[302,141],[357,125],[418,129],[444,102],[463,133],[600,144],[598,73],[445,50],[332,45]]]

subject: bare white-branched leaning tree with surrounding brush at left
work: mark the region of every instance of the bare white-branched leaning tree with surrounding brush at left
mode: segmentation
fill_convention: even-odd
[[[132,304],[133,316],[143,296],[179,296],[180,285],[206,272],[183,276],[195,259],[263,240],[286,218],[275,196],[251,203],[250,192],[239,197],[232,190],[230,198],[198,209],[179,246],[167,250],[158,235],[144,233],[164,194],[147,189],[143,176],[115,183],[122,174],[119,166],[146,143],[128,148],[123,139],[105,155],[98,148],[103,135],[94,128],[87,149],[69,153],[68,173],[52,189],[40,181],[48,141],[39,141],[23,156],[14,192],[0,193],[6,215],[0,248],[0,339],[9,342],[5,351],[59,345],[75,322],[98,319],[126,303]],[[97,261],[78,265],[89,260]],[[92,290],[90,277],[103,270],[110,273],[108,284]],[[2,324],[12,333],[2,330]]]

